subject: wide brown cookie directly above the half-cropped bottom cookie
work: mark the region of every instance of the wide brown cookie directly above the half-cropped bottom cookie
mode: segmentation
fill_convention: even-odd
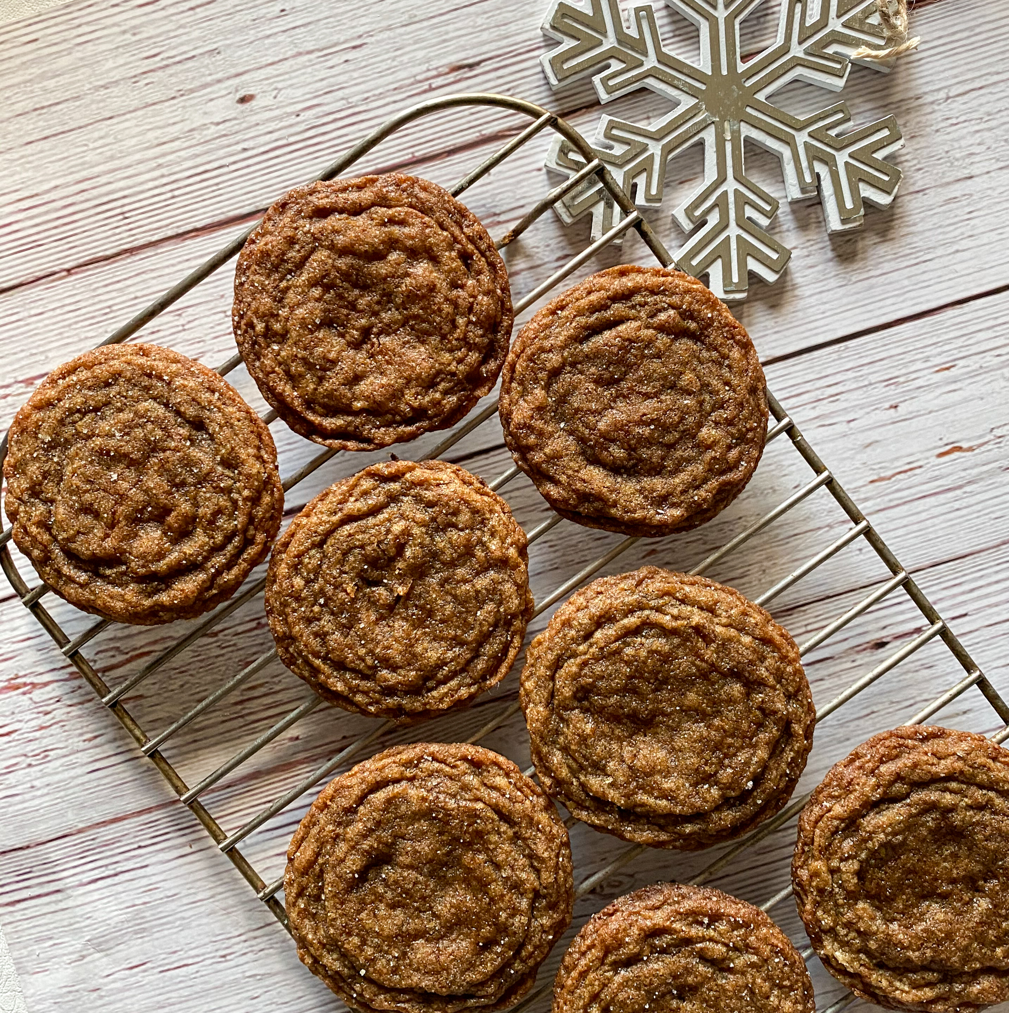
[[[572,815],[686,851],[777,812],[816,721],[782,627],[655,566],[572,595],[527,650],[520,701],[540,783]]]

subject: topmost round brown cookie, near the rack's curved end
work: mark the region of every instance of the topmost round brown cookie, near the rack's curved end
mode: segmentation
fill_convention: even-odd
[[[373,450],[457,422],[497,381],[504,262],[476,217],[399,173],[299,186],[235,270],[235,339],[296,432]]]

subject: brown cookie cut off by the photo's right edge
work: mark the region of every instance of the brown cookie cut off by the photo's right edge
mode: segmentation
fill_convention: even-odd
[[[792,883],[835,978],[889,1009],[1009,999],[1009,750],[923,725],[835,764],[798,825]]]

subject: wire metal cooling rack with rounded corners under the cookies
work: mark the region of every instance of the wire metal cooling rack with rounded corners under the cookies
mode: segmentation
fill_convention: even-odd
[[[542,200],[538,201],[532,208],[530,208],[525,217],[523,217],[513,229],[511,229],[500,240],[497,241],[496,245],[498,248],[515,242],[515,240],[517,240],[530,225],[532,225],[546,211],[551,209],[557,201],[573,190],[579,184],[589,180],[590,177],[595,177],[602,183],[603,186],[606,187],[615,205],[621,210],[624,216],[621,221],[611,228],[605,235],[600,237],[600,239],[592,243],[590,246],[586,247],[580,253],[572,257],[569,261],[567,261],[567,263],[546,279],[546,281],[544,281],[541,285],[537,286],[525,298],[516,303],[516,317],[518,317],[520,313],[533,305],[533,303],[541,297],[546,295],[551,289],[576,270],[581,264],[590,260],[596,253],[608,246],[614,239],[623,235],[623,233],[625,233],[628,229],[634,229],[637,231],[638,235],[654,254],[659,263],[664,266],[675,265],[674,258],[670,255],[669,251],[649,228],[648,224],[635,210],[628,196],[617,185],[606,167],[595,158],[591,145],[581,137],[581,135],[578,134],[577,131],[575,131],[563,119],[555,115],[549,110],[544,109],[543,107],[532,102],[523,101],[522,99],[513,98],[507,95],[484,93],[460,94],[415,105],[400,113],[398,116],[388,121],[378,130],[369,134],[348,152],[346,152],[345,155],[330,165],[324,172],[316,176],[316,178],[331,179],[334,176],[339,175],[357,162],[362,156],[371,151],[381,141],[385,140],[401,127],[404,127],[414,120],[418,120],[421,116],[439,112],[444,109],[460,106],[498,106],[522,113],[531,119],[533,122],[515,138],[498,149],[494,154],[482,161],[472,171],[460,179],[459,182],[456,183],[456,185],[451,189],[451,192],[454,196],[462,193],[463,190],[467,189],[482,176],[486,175],[486,173],[488,173],[492,168],[500,164],[506,158],[518,151],[519,148],[526,144],[531,138],[548,128],[569,141],[571,145],[581,154],[586,162],[581,171],[565,180],[559,186],[550,190]],[[595,185],[595,182],[586,182],[586,184]],[[153,320],[168,306],[235,256],[242,248],[246,237],[254,227],[255,226],[252,226],[241,235],[236,236],[235,239],[228,243],[227,246],[208,259],[191,274],[183,278],[177,285],[173,286],[163,296],[155,300],[155,302],[151,303],[151,305],[148,306],[143,312],[135,316],[118,330],[113,331],[102,342],[102,344],[111,344],[124,341],[139,331],[145,324]],[[235,355],[218,368],[218,373],[223,376],[233,370],[240,363],[241,357]],[[786,589],[792,587],[792,585],[800,581],[821,564],[841,552],[846,546],[861,539],[867,543],[875,551],[879,559],[882,560],[886,569],[890,573],[889,578],[875,587],[868,595],[849,608],[843,615],[838,616],[835,620],[824,626],[818,633],[809,637],[799,646],[799,653],[804,655],[813,647],[824,643],[828,638],[834,636],[857,617],[861,616],[874,605],[881,602],[888,595],[897,592],[898,589],[901,589],[917,607],[918,611],[921,613],[922,619],[924,620],[924,626],[913,639],[905,643],[899,650],[891,653],[885,660],[875,666],[875,668],[871,671],[865,673],[865,675],[852,683],[846,690],[844,690],[844,692],[840,693],[829,703],[821,707],[817,711],[817,720],[820,721],[828,714],[833,713],[866,687],[872,685],[876,682],[876,680],[886,675],[886,673],[896,668],[901,661],[910,657],[930,640],[938,637],[949,648],[953,657],[962,668],[963,677],[916,713],[908,715],[905,723],[917,724],[927,720],[931,715],[935,714],[938,710],[955,700],[962,693],[965,693],[972,687],[976,687],[981,691],[985,699],[992,706],[1000,720],[1005,725],[1001,731],[992,736],[993,741],[997,743],[1005,741],[1009,737],[1009,705],[1007,705],[1005,700],[1003,700],[1002,697],[996,692],[995,688],[982,673],[981,669],[974,663],[971,655],[953,634],[949,626],[925,597],[924,593],[912,576],[901,565],[897,556],[889,550],[882,538],[880,538],[880,536],[872,528],[872,525],[865,519],[862,512],[855,505],[852,498],[841,487],[838,480],[831,474],[830,469],[824,464],[816,451],[813,451],[813,449],[805,441],[796,424],[788,416],[785,409],[770,391],[767,392],[767,398],[771,414],[774,418],[774,424],[767,433],[767,442],[770,443],[771,441],[782,436],[787,436],[791,445],[795,448],[802,460],[805,461],[812,471],[812,478],[810,478],[810,480],[797,492],[780,502],[758,521],[752,523],[743,531],[740,531],[720,548],[711,552],[697,566],[690,570],[690,572],[703,573],[720,559],[724,558],[729,553],[733,552],[748,542],[758,532],[780,520],[793,506],[801,502],[811,493],[820,488],[825,488],[838,503],[844,514],[847,515],[851,522],[851,526],[840,538],[837,538],[821,552],[807,559],[804,563],[802,563],[802,565],[792,570],[787,576],[778,580],[777,583],[756,598],[755,601],[757,604],[767,605],[770,601],[772,601],[772,599],[776,598]],[[445,454],[451,447],[462,440],[463,437],[472,433],[478,425],[482,424],[495,414],[496,409],[496,402],[488,404],[473,417],[458,426],[431,452],[424,454],[422,459],[440,457]],[[263,420],[267,423],[274,421],[276,418],[276,411],[269,411],[263,416]],[[322,451],[309,461],[308,464],[286,478],[283,483],[285,492],[289,491],[308,475],[312,474],[312,472],[332,458],[336,453],[337,452],[334,450]],[[7,437],[4,436],[2,442],[0,442],[0,462],[2,462],[4,457],[6,457],[6,454]],[[493,489],[500,489],[513,478],[515,478],[518,473],[518,467],[513,465],[497,478],[491,481],[489,485]],[[560,520],[560,517],[553,514],[549,520],[544,521],[542,524],[535,527],[528,534],[529,543],[535,543],[551,528],[558,524]],[[292,728],[302,718],[306,717],[313,710],[322,705],[323,701],[321,698],[313,697],[313,699],[285,714],[277,720],[276,723],[268,728],[268,730],[248,743],[248,745],[242,750],[232,756],[225,763],[221,764],[216,770],[208,773],[201,781],[191,787],[186,784],[176,771],[175,767],[162,755],[161,747],[172,738],[172,736],[175,735],[180,729],[185,727],[190,721],[215,707],[225,697],[234,692],[239,686],[263,670],[270,661],[274,660],[276,657],[276,651],[270,649],[261,654],[254,661],[252,661],[251,665],[246,666],[240,672],[221,684],[213,693],[201,700],[196,706],[191,707],[169,727],[160,731],[149,732],[145,728],[141,727],[140,723],[131,715],[130,711],[124,705],[123,698],[140,686],[141,683],[147,680],[155,672],[161,669],[166,663],[196,644],[201,637],[234,613],[238,608],[255,596],[259,595],[263,590],[265,578],[255,580],[230,602],[227,602],[225,605],[212,612],[195,628],[186,633],[185,636],[176,640],[171,646],[163,649],[151,658],[139,672],[135,673],[133,676],[117,686],[109,686],[105,682],[102,675],[96,671],[92,664],[87,659],[84,653],[84,647],[94,636],[112,624],[110,624],[107,620],[99,620],[92,623],[79,635],[74,637],[69,636],[60,627],[49,611],[47,611],[46,606],[43,604],[43,599],[49,593],[50,589],[45,583],[37,585],[33,588],[28,587],[17,571],[7,544],[10,540],[10,535],[11,532],[9,528],[0,534],[0,566],[2,566],[7,579],[10,581],[14,592],[20,598],[21,603],[30,610],[32,615],[43,626],[46,632],[53,638],[63,654],[70,660],[70,663],[77,669],[77,671],[95,691],[101,702],[109,709],[109,711],[111,711],[112,714],[115,715],[117,718],[119,718],[123,726],[136,741],[141,752],[161,772],[162,776],[171,786],[172,790],[178,795],[179,800],[186,805],[192,814],[200,821],[207,833],[211,836],[211,838],[213,838],[219,850],[227,856],[227,858],[231,861],[235,868],[238,869],[238,871],[255,891],[259,901],[265,904],[277,919],[285,927],[287,927],[287,918],[284,906],[277,898],[277,894],[283,889],[283,877],[271,879],[269,881],[264,879],[257,869],[253,867],[252,863],[242,854],[238,845],[273,816],[286,809],[306,791],[309,791],[313,787],[317,786],[320,782],[330,777],[341,767],[347,765],[353,757],[360,754],[366,749],[366,747],[375,742],[375,739],[377,739],[384,731],[388,730],[392,726],[393,722],[376,721],[375,727],[371,731],[351,743],[344,749],[340,750],[335,756],[328,759],[320,767],[305,773],[304,776],[299,778],[298,782],[288,791],[274,799],[273,802],[258,811],[254,816],[247,820],[240,827],[228,831],[208,810],[205,804],[200,800],[200,796],[212,785],[217,784],[223,778],[227,777],[227,775],[238,769],[246,761],[254,757],[268,743],[273,742],[289,728]],[[624,553],[637,541],[639,541],[639,539],[636,537],[623,539],[608,552],[601,555],[594,562],[590,563],[584,569],[575,573],[570,579],[564,581],[564,583],[562,583],[559,588],[536,604],[534,617],[540,615],[552,605],[560,601],[604,566]],[[481,738],[490,734],[491,731],[508,721],[511,717],[516,715],[519,710],[520,708],[518,703],[512,703],[507,707],[502,707],[494,715],[494,717],[484,724],[475,734],[473,734],[468,742],[479,742]],[[527,773],[532,773],[532,770],[530,769]],[[738,855],[752,848],[785,823],[794,819],[801,810],[807,798],[808,794],[794,798],[791,803],[777,816],[762,824],[758,830],[754,831],[748,837],[739,841],[727,851],[719,855],[715,861],[711,862],[697,875],[695,875],[690,882],[700,884],[711,879],[716,873],[727,866],[728,863]],[[573,820],[568,819],[568,826],[571,826]],[[618,869],[622,868],[644,850],[645,847],[643,845],[635,845],[624,850],[616,859],[606,865],[605,868],[602,868],[598,872],[589,876],[576,886],[575,900],[585,897],[587,893],[596,889],[608,877],[613,875]],[[760,907],[765,912],[770,911],[790,895],[791,886],[787,886],[774,897],[769,898],[764,904],[760,905]],[[802,956],[806,960],[808,960],[811,954],[811,947],[807,947],[802,951]],[[538,987],[531,995],[527,996],[526,999],[514,1007],[514,1013],[518,1013],[518,1011],[525,1010],[532,1006],[538,1000],[543,998],[551,988],[552,982],[540,985],[540,987]],[[851,993],[848,993],[830,1005],[825,1013],[836,1013],[836,1011],[842,1009],[853,999],[854,996]]]

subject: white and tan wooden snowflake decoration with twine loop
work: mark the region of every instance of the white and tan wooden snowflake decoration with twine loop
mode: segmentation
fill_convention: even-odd
[[[777,40],[746,62],[740,23],[763,0],[666,2],[697,25],[700,66],[664,49],[648,4],[633,7],[626,26],[618,0],[554,0],[543,31],[561,45],[544,55],[543,69],[553,88],[592,75],[603,102],[648,88],[676,103],[651,127],[604,115],[597,155],[637,206],[654,208],[663,202],[670,160],[703,143],[704,180],[673,212],[690,236],[676,259],[695,277],[707,275],[720,298],[745,299],[750,271],[774,282],[791,256],[767,231],[778,202],[747,178],[745,141],[781,159],[789,201],[819,193],[831,232],[857,228],[865,202],[883,207],[897,194],[901,172],[885,159],[904,142],[892,116],[851,130],[843,101],[809,116],[771,101],[794,80],[840,91],[853,54],[881,47],[876,0],[779,0]],[[570,176],[584,164],[570,145],[554,141],[549,168]],[[614,224],[612,199],[594,176],[557,210],[567,223],[591,213],[593,238]]]

